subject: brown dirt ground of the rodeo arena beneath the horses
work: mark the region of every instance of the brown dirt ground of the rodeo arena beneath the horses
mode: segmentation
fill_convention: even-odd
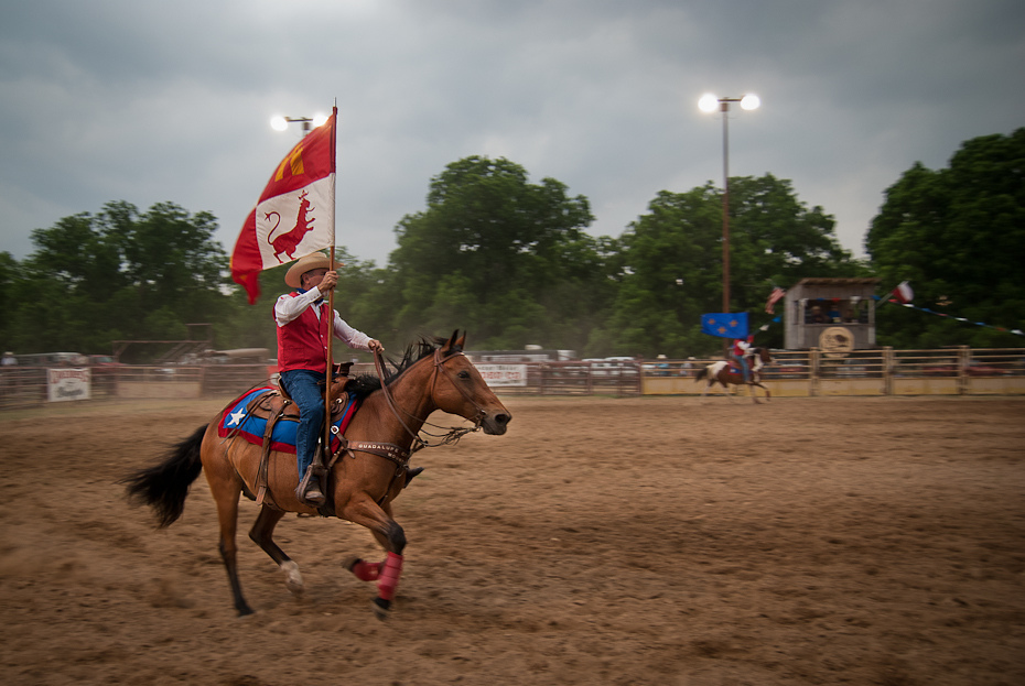
[[[126,503],[220,405],[0,415],[0,682],[1025,683],[1025,399],[508,399],[416,456],[387,622],[360,527],[282,521],[296,600],[246,501],[238,619],[205,479]]]

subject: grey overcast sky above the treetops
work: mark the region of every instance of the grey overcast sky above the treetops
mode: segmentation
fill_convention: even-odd
[[[1025,126],[1021,0],[0,0],[0,251],[127,200],[208,210],[230,252],[301,137],[339,110],[337,243],[384,265],[430,179],[504,156],[618,237],[659,190],[790,179],[864,238],[916,161]]]

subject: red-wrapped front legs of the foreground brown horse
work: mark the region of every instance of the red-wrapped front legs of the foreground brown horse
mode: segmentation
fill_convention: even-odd
[[[378,505],[369,496],[354,499],[346,505],[338,516],[370,530],[374,537],[387,552],[385,562],[375,564],[362,559],[350,559],[346,568],[364,581],[377,581],[377,598],[374,599],[374,611],[378,618],[385,619],[391,610],[399,577],[402,574],[402,551],[406,549],[406,532],[391,519],[391,505]]]

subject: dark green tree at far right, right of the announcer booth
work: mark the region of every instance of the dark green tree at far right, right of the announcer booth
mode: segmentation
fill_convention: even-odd
[[[942,170],[916,163],[886,190],[866,249],[884,287],[915,304],[1007,329],[1025,325],[1025,128],[964,142]],[[903,348],[1019,347],[992,328],[883,306],[878,341]]]

